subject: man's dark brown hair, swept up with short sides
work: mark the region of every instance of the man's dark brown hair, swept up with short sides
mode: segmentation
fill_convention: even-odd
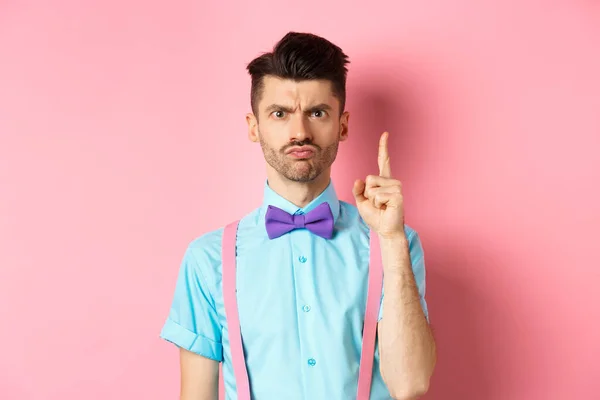
[[[267,75],[281,79],[328,80],[339,99],[340,113],[346,106],[346,76],[348,56],[329,40],[311,33],[289,32],[273,47],[252,60],[248,72],[252,77],[250,104],[258,116],[258,103]]]

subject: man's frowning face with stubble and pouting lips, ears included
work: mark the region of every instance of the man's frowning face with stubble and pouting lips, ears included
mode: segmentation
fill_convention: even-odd
[[[267,76],[258,114],[248,116],[249,137],[260,142],[267,164],[294,182],[309,182],[331,167],[347,138],[348,114],[331,83]]]

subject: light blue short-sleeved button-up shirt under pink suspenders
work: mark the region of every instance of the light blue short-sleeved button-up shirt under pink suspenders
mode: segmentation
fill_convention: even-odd
[[[268,205],[300,214],[322,202],[329,203],[334,215],[332,239],[307,229],[268,238]],[[415,230],[406,226],[405,232],[421,306],[429,318],[423,248]],[[189,244],[160,336],[223,361],[225,392],[233,400],[237,395],[221,286],[222,234],[223,228],[217,229]],[[332,183],[304,208],[265,183],[263,204],[240,220],[237,238],[238,310],[253,399],[356,398],[368,268],[369,228],[354,205],[338,200]],[[380,307],[380,319],[382,313]],[[377,347],[371,399],[391,399],[379,372]]]

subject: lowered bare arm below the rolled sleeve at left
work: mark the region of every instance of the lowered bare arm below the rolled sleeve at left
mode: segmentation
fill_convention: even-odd
[[[180,349],[180,400],[217,400],[219,363]]]

